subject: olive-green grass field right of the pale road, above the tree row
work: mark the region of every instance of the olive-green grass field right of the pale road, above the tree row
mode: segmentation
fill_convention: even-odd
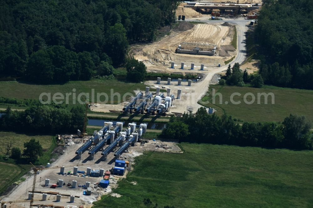
[[[223,96],[222,104],[219,104],[219,97],[216,97],[215,104],[212,104],[212,88],[216,93],[220,92]],[[240,101],[241,104],[231,104],[230,96],[234,92],[239,92],[241,96],[235,96],[234,101]],[[253,93],[255,102],[251,105],[244,103],[244,94]],[[261,97],[260,103],[257,104],[257,93],[274,93],[275,104],[271,104],[271,97],[268,104],[264,104],[264,96]],[[313,91],[300,90],[291,88],[282,88],[274,86],[264,86],[263,88],[253,87],[236,87],[236,86],[220,86],[212,85],[209,87],[209,96],[204,96],[202,101],[210,103],[205,104],[206,107],[217,109],[218,115],[226,113],[234,118],[243,121],[283,121],[285,117],[291,114],[305,115],[313,121]],[[251,96],[247,97],[247,101],[251,101]],[[225,102],[228,102],[226,105]],[[200,103],[200,102],[199,102]]]

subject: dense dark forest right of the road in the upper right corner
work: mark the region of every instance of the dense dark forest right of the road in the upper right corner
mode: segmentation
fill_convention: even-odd
[[[313,89],[312,22],[312,1],[263,1],[255,34],[264,83]]]

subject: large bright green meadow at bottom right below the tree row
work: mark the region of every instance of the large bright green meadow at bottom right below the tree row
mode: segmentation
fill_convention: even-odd
[[[95,207],[310,207],[313,151],[182,143],[185,154],[146,152]],[[131,182],[136,181],[133,185]],[[152,201],[151,206],[143,203]]]

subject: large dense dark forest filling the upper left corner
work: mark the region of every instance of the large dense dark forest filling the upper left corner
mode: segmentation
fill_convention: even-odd
[[[176,0],[0,0],[0,77],[89,80],[175,19]]]

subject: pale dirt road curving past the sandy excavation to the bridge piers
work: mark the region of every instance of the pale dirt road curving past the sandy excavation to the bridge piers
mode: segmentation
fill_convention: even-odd
[[[209,22],[207,18],[197,18],[197,19],[187,19],[186,21],[195,21],[200,19],[201,22]],[[238,19],[238,20],[221,20],[215,22],[229,22],[236,25],[237,27],[237,40],[238,40],[238,50],[235,59],[230,62],[233,65],[235,62],[240,64],[244,62],[246,58],[246,48],[245,48],[245,32],[248,30],[248,24],[250,20]],[[177,86],[177,83],[173,83],[169,86],[167,82],[163,81],[159,86],[166,88],[171,88],[171,94],[177,95],[177,89],[182,89],[181,99],[175,99],[174,105],[171,107],[171,112],[184,113],[186,112],[187,106],[192,106],[194,111],[197,111],[201,105],[198,101],[207,93],[209,82],[211,81],[214,74],[223,72],[227,69],[227,65],[222,67],[208,67],[206,76],[200,81],[192,83],[192,86],[187,86],[186,82],[182,82],[181,86]],[[183,71],[183,70],[181,70]],[[192,70],[194,72],[201,72],[198,70]],[[202,71],[203,72],[203,71]],[[146,85],[150,85],[151,88],[156,87],[156,81],[147,81]]]

